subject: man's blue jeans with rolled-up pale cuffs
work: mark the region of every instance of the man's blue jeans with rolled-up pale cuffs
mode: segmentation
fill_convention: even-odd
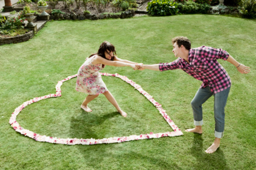
[[[225,126],[225,106],[227,103],[229,91],[230,87],[219,93],[213,94],[210,91],[209,86],[203,89],[199,88],[195,97],[191,101],[194,115],[194,125],[203,125],[202,104],[212,95],[214,95],[215,137],[222,138]]]

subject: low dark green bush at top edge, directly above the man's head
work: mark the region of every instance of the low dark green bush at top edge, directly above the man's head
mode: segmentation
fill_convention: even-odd
[[[184,14],[207,14],[210,9],[210,5],[197,4],[195,2],[188,1],[184,4],[179,4],[178,8],[180,12]]]

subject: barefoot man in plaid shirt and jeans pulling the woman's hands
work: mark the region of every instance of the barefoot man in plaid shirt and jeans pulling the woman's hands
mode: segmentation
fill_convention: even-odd
[[[155,65],[137,65],[138,70],[166,71],[182,69],[197,80],[202,81],[195,97],[191,101],[195,128],[186,132],[202,133],[202,104],[214,95],[215,106],[215,140],[205,150],[206,153],[214,153],[220,146],[225,125],[225,105],[231,87],[230,77],[226,70],[217,62],[223,59],[233,64],[242,74],[250,72],[249,67],[238,63],[229,53],[223,49],[201,46],[191,49],[191,42],[187,37],[175,37],[172,39],[173,52],[178,58],[174,62]]]

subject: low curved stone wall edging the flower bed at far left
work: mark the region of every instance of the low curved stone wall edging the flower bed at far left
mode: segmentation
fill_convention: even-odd
[[[31,30],[28,33],[23,35],[18,35],[15,37],[0,38],[0,45],[24,42],[29,40],[33,36],[34,36],[34,31]]]

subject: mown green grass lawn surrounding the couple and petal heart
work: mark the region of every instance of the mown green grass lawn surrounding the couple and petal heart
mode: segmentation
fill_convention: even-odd
[[[0,169],[253,169],[255,168],[255,20],[214,15],[137,17],[99,21],[53,21],[29,41],[0,46]],[[171,39],[187,36],[192,47],[223,48],[251,73],[240,74],[219,60],[231,77],[226,126],[221,147],[214,141],[213,97],[203,105],[203,134],[194,127],[190,101],[201,82],[181,70],[156,72],[107,66],[103,71],[127,76],[162,104],[184,132],[177,137],[114,144],[62,145],[37,142],[9,124],[16,107],[34,97],[55,93],[58,81],[75,75],[84,60],[107,40],[119,58],[156,64],[175,60]],[[105,77],[109,91],[127,112],[123,118],[104,95],[79,106],[86,94],[75,91],[76,78],[61,86],[62,97],[24,108],[19,124],[35,133],[60,138],[130,136],[173,131],[158,110],[131,85]]]

